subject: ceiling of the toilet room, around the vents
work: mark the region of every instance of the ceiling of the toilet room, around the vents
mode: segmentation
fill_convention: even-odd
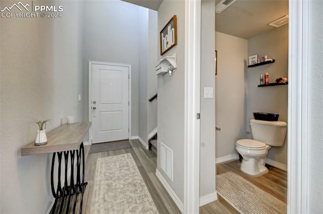
[[[216,0],[216,5],[221,0]],[[275,29],[268,23],[288,15],[288,0],[237,0],[216,14],[216,31],[249,39]]]

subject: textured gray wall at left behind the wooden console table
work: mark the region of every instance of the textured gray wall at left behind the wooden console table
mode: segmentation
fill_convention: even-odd
[[[60,19],[1,18],[1,213],[46,213],[53,199],[50,155],[21,156],[36,137],[33,118],[51,119],[47,131],[68,115],[83,119],[82,4],[60,4]]]

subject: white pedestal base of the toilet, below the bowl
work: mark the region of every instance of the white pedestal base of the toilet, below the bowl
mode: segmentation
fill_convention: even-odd
[[[240,170],[250,176],[259,177],[268,173],[268,169],[256,158],[242,159]]]

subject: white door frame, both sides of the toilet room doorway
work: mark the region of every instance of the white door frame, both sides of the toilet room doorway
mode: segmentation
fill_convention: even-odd
[[[200,4],[201,0],[185,1],[185,142],[187,145],[185,144],[184,148],[184,213],[199,213],[199,178],[195,173],[199,175],[199,138],[197,139],[197,136],[199,137],[200,131],[196,129],[196,126],[199,127],[199,121],[194,120],[194,116],[199,112],[199,108],[195,109],[200,103],[197,99],[199,93],[195,93],[199,91],[199,87],[196,88],[196,86],[199,85],[200,68],[187,60],[191,59],[191,62],[197,60],[196,63],[200,63],[200,30],[198,30],[201,26]],[[288,213],[308,213],[308,10],[309,1],[289,0]],[[191,26],[195,28],[197,34],[190,30]],[[192,51],[187,51],[188,49]],[[197,150],[194,151],[193,148]],[[188,159],[189,156],[190,159]]]

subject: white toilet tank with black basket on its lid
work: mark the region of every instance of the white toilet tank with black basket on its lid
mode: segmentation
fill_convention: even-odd
[[[270,146],[282,146],[285,141],[287,123],[283,121],[250,120],[252,139]]]

